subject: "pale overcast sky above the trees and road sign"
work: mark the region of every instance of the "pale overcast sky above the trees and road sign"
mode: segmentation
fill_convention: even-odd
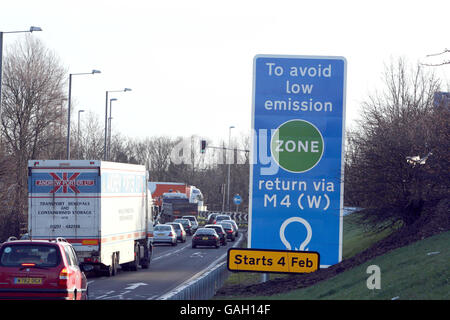
[[[14,0],[2,1],[0,31],[39,26],[32,36],[68,73],[101,70],[73,77],[75,113],[103,125],[105,91],[128,87],[110,94],[113,131],[217,141],[231,125],[233,135],[250,131],[256,54],[344,56],[351,125],[391,59],[435,62],[426,55],[450,48],[449,9],[434,0]],[[23,36],[5,34],[4,50]],[[449,65],[433,70],[450,82]]]

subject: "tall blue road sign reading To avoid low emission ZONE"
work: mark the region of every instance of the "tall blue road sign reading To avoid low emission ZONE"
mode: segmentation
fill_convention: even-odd
[[[342,259],[346,60],[254,58],[249,247]]]

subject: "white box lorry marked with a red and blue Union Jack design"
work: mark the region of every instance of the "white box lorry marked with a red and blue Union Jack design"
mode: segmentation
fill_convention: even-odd
[[[144,166],[100,160],[28,162],[28,233],[65,238],[81,263],[113,276],[148,268],[152,198]]]

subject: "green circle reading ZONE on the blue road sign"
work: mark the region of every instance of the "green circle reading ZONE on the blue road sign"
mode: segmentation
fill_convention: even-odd
[[[322,134],[305,120],[289,120],[272,136],[270,150],[278,165],[290,172],[311,170],[323,155]]]

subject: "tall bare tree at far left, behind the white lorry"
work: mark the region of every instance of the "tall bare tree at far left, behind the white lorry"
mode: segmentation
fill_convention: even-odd
[[[6,154],[14,159],[15,199],[10,212],[18,221],[10,227],[16,234],[26,207],[27,160],[48,158],[63,145],[59,127],[65,75],[56,55],[34,37],[7,50],[0,130]]]

